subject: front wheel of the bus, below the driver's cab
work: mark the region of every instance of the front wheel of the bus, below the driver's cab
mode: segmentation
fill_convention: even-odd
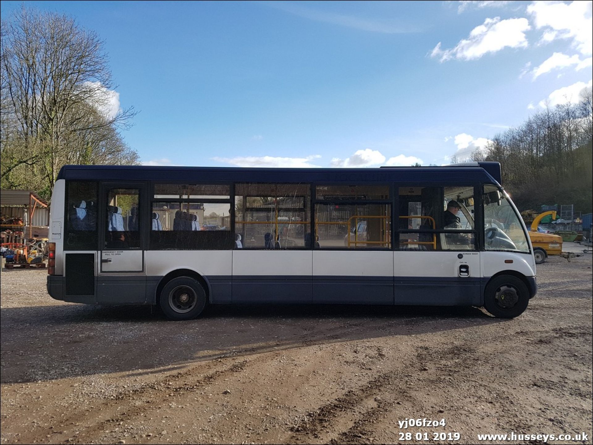
[[[484,290],[484,308],[497,318],[515,318],[529,303],[529,290],[521,278],[500,275],[492,278]]]

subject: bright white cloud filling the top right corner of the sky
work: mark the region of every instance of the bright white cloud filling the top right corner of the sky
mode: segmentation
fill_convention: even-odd
[[[543,28],[541,43],[556,39],[570,39],[572,46],[581,54],[590,55],[593,50],[593,21],[589,1],[564,2],[535,1],[527,7],[537,29]]]

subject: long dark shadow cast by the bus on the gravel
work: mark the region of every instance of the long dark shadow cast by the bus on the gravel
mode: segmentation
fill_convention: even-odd
[[[138,376],[215,358],[499,322],[478,308],[442,306],[217,305],[186,322],[148,306],[3,308],[0,382]]]

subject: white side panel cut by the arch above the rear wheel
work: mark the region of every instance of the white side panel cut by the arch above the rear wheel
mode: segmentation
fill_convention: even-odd
[[[231,276],[233,251],[145,251],[146,275],[163,277],[177,269],[189,269],[202,276]]]

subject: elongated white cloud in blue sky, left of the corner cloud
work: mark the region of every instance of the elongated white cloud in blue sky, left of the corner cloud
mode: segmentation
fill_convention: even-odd
[[[505,47],[524,48],[527,47],[525,31],[530,29],[527,18],[487,18],[482,25],[471,30],[467,39],[461,40],[454,48],[442,50],[439,42],[432,50],[431,57],[438,57],[441,62],[450,59],[474,60]]]

